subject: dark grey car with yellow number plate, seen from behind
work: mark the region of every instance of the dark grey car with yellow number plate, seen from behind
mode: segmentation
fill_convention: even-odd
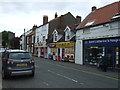
[[[35,63],[31,54],[24,50],[7,50],[2,56],[2,78],[16,75],[34,76]]]

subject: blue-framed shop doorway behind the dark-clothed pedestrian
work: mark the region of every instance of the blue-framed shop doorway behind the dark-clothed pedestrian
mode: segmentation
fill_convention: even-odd
[[[115,67],[115,54],[113,47],[107,47],[105,56],[108,57],[108,67]]]

